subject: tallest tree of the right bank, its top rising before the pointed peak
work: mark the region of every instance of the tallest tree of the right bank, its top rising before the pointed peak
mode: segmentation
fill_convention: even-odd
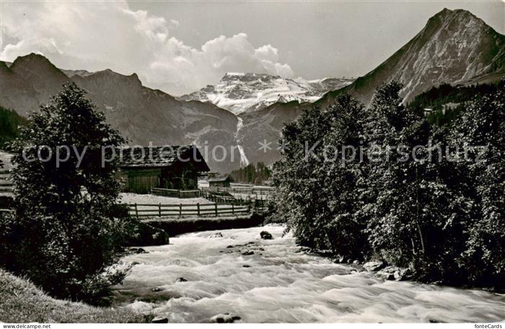
[[[376,90],[367,126],[370,149],[380,150],[367,174],[369,241],[387,261],[441,280],[458,272],[457,242],[471,209],[442,152],[444,132],[401,104],[401,88],[393,81]]]

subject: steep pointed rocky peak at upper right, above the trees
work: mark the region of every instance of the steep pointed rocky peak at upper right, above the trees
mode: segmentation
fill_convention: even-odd
[[[444,9],[431,17],[412,40],[345,91],[368,104],[377,86],[402,81],[404,102],[441,83],[491,82],[505,76],[505,35],[466,10]]]

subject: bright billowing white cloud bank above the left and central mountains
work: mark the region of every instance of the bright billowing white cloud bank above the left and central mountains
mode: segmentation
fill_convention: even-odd
[[[238,33],[194,48],[171,36],[179,21],[132,11],[126,2],[3,3],[2,9],[5,61],[35,52],[65,69],[136,72],[145,85],[172,95],[216,83],[229,71],[294,76],[270,44],[256,48]]]

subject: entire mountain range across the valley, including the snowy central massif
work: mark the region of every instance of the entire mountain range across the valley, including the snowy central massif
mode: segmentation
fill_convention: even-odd
[[[214,146],[235,147],[234,161],[230,152],[222,161],[220,152],[206,156],[212,170],[230,172],[244,163],[278,159],[276,142],[283,123],[314,104],[331,104],[343,92],[368,105],[377,86],[397,79],[405,84],[401,95],[407,103],[441,83],[473,84],[504,76],[505,36],[468,11],[444,9],[391,57],[356,80],[229,73],[216,85],[174,98],[143,86],[136,74],[61,70],[45,57],[30,54],[13,63],[0,62],[0,106],[27,116],[64,82],[74,81],[132,144],[194,144],[204,156]],[[260,143],[270,144],[260,150]]]

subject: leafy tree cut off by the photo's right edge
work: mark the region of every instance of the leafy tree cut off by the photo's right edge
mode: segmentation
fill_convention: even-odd
[[[466,227],[468,239],[459,258],[473,285],[505,288],[505,80],[475,99],[455,122],[452,145],[459,157],[460,179],[469,184],[476,205]],[[466,149],[465,146],[485,148]],[[479,160],[479,161],[476,161]]]

